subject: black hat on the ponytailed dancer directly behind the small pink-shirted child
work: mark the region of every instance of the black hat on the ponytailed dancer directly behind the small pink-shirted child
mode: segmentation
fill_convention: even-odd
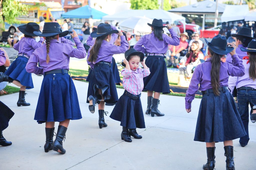
[[[118,30],[112,30],[111,25],[109,24],[100,24],[98,25],[97,30],[91,33],[91,37],[95,38],[112,33],[118,33]]]

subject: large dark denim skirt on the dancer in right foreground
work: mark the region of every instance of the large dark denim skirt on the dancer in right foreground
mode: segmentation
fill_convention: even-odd
[[[204,94],[201,100],[195,141],[223,142],[246,135],[242,120],[229,90]]]

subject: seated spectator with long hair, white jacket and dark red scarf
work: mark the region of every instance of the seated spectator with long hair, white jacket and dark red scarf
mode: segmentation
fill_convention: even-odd
[[[190,79],[193,68],[201,63],[200,59],[204,59],[204,55],[200,51],[199,42],[195,41],[192,43],[190,51],[180,61],[180,74],[184,74],[187,79]]]

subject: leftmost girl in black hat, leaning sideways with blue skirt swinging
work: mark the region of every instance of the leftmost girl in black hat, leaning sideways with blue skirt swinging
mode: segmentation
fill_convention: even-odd
[[[30,103],[25,101],[25,91],[26,89],[34,88],[31,73],[28,73],[25,69],[28,59],[36,48],[41,47],[44,38],[40,38],[39,42],[36,42],[34,31],[39,31],[39,25],[35,22],[29,22],[26,25],[19,26],[20,32],[24,33],[24,37],[16,43],[13,47],[19,52],[15,61],[10,65],[10,67],[5,71],[5,79],[16,80],[13,83],[20,87],[19,100],[17,106],[29,106]],[[0,82],[4,81],[4,78]],[[9,82],[12,82],[12,80]],[[17,83],[18,82],[18,83]]]

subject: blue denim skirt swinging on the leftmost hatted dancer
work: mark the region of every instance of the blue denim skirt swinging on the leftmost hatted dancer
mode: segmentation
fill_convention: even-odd
[[[26,89],[32,89],[34,85],[31,73],[26,71],[27,62],[28,59],[26,57],[18,56],[4,74],[13,80],[19,81],[20,84],[26,86]]]

